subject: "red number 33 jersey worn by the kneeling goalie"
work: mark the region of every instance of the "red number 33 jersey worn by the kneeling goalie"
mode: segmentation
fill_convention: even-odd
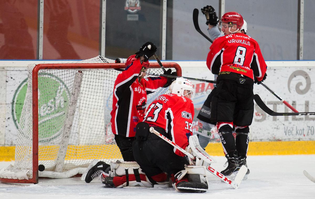
[[[157,97],[146,111],[143,122],[163,128],[168,138],[185,149],[192,135],[194,105],[192,100],[176,94],[164,94]],[[174,147],[176,155],[185,156]]]

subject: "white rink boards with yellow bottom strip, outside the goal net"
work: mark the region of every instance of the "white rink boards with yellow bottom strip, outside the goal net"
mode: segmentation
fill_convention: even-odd
[[[0,161],[14,158],[14,145],[18,122],[16,120],[21,101],[16,96],[27,78],[26,66],[34,61],[0,61]],[[43,63],[44,61],[36,61]],[[56,61],[45,61],[55,63]],[[62,61],[63,63],[65,61]],[[205,61],[176,62],[182,68],[183,77],[213,80]],[[267,79],[264,82],[279,96],[300,112],[315,111],[315,61],[267,61]],[[193,132],[196,133],[197,114],[204,100],[213,89],[213,84],[193,82],[195,88],[195,118]],[[19,90],[20,89],[20,90]],[[259,94],[269,108],[277,112],[289,109],[266,88],[254,85],[254,94]],[[15,97],[15,101],[14,101]],[[19,104],[20,103],[20,104]],[[216,132],[206,150],[211,155],[221,156],[222,146]],[[266,115],[256,104],[253,123],[250,126],[248,155],[315,154],[315,117],[272,117]]]

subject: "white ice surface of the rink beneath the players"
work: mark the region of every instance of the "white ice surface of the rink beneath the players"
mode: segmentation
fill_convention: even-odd
[[[223,169],[225,157],[215,156],[211,166]],[[0,168],[11,162],[0,162]],[[94,179],[87,184],[80,178],[40,179],[33,184],[0,183],[0,198],[32,199],[223,199],[223,198],[315,198],[315,183],[307,179],[303,170],[315,177],[315,155],[249,156],[248,179],[238,189],[222,183],[209,173],[209,190],[205,193],[180,193],[173,188],[108,188]]]

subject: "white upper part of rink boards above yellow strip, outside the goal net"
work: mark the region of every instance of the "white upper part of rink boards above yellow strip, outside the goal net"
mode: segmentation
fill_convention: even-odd
[[[26,66],[34,61],[0,61],[2,69],[0,105],[5,107],[0,114],[0,145],[14,145],[17,128],[12,119],[12,101],[17,96],[21,82],[27,78]],[[36,61],[43,63],[43,61]],[[56,63],[66,61],[44,61]],[[153,61],[152,61],[153,62]],[[182,76],[213,80],[214,76],[206,66],[205,61],[167,61],[176,62],[182,68]],[[315,111],[314,84],[315,61],[268,61],[268,77],[264,82],[268,87],[279,94],[289,104],[296,104],[301,112]],[[3,81],[3,77],[6,80]],[[195,116],[203,105],[204,100],[211,92],[212,84],[193,81],[195,90]],[[5,85],[3,85],[5,84]],[[254,86],[254,93],[259,94],[267,105],[277,112],[288,112],[289,109],[261,85]],[[250,126],[251,141],[269,140],[315,140],[314,116],[279,116],[266,115],[255,105],[254,119]],[[196,118],[195,122],[196,123]],[[5,130],[4,130],[5,129]],[[5,131],[5,133],[3,132]],[[196,131],[196,126],[194,128]]]

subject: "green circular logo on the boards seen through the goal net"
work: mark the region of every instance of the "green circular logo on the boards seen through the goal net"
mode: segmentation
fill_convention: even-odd
[[[12,117],[16,128],[19,128],[20,124],[27,80],[28,78],[20,83],[12,100]],[[38,139],[51,140],[61,133],[69,96],[69,89],[60,78],[47,73],[38,74]],[[32,113],[27,114],[31,120]]]

